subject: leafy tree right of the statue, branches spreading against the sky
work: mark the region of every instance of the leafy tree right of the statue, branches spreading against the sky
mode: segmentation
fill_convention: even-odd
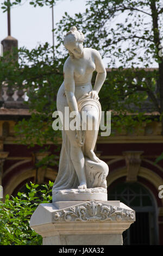
[[[102,109],[124,113],[118,121],[126,128],[129,124],[134,129],[141,117],[145,121],[143,112],[163,113],[162,15],[162,0],[88,0],[84,13],[73,17],[65,13],[55,30],[58,51],[65,33],[76,25],[85,34],[86,47],[96,48],[107,58],[111,71],[99,94]],[[158,70],[140,69],[153,65]],[[117,124],[116,120],[112,115],[112,124]],[[163,127],[162,115],[160,120]]]

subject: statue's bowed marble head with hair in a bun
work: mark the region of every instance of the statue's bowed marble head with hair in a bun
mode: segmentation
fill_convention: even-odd
[[[72,58],[74,56],[81,56],[83,52],[83,41],[84,34],[78,31],[76,27],[71,27],[65,36],[64,45]]]

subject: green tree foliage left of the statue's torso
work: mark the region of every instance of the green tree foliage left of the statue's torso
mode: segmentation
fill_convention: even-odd
[[[17,124],[16,135],[21,144],[30,147],[55,142],[61,135],[60,131],[52,129],[52,113],[57,109],[56,97],[63,81],[64,59],[53,59],[53,51],[53,47],[46,43],[32,51],[20,48],[18,61],[13,62],[8,52],[0,59],[0,84],[6,83],[12,90],[23,89],[29,99],[24,103],[32,113],[31,118]]]

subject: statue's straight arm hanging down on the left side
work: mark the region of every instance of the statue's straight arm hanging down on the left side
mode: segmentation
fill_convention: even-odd
[[[67,103],[71,111],[76,111],[78,113],[78,104],[74,95],[75,83],[73,72],[72,65],[66,61],[64,65],[64,84]]]

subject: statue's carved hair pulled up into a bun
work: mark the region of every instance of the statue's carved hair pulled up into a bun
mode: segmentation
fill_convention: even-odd
[[[68,46],[68,44],[70,42],[77,42],[77,41],[84,41],[84,34],[81,31],[78,31],[77,28],[75,26],[70,28],[70,31],[67,32],[65,39],[64,39],[64,45],[65,48],[67,48],[66,46]],[[70,57],[73,58],[73,53],[71,51],[69,51]]]

